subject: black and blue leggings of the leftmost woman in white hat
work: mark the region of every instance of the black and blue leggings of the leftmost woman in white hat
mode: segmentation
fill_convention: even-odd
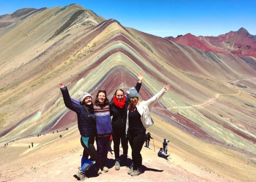
[[[85,172],[98,158],[94,147],[95,136],[81,137],[80,141],[83,146],[83,156],[81,159],[81,171]],[[90,155],[91,158],[88,158]]]

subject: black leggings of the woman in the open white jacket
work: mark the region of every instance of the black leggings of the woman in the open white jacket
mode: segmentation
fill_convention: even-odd
[[[133,170],[137,170],[137,168],[141,168],[142,165],[142,157],[141,157],[141,149],[145,142],[146,133],[141,134],[131,134],[128,132],[128,140],[129,144],[132,148],[132,162],[133,162]]]

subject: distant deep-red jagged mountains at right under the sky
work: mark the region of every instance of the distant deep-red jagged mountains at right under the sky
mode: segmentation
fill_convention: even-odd
[[[188,45],[201,49],[204,52],[229,53],[237,56],[256,57],[256,36],[251,35],[246,29],[240,28],[238,31],[230,31],[226,34],[214,36],[198,36],[190,33],[166,40],[176,42],[181,45]]]

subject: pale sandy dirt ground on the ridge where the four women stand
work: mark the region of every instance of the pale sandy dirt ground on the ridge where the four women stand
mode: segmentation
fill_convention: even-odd
[[[77,128],[73,128],[69,133],[62,132],[63,138],[57,140],[58,135],[46,135],[33,138],[37,145],[24,155],[13,155],[12,162],[8,158],[0,164],[0,181],[77,181],[76,172],[81,163],[82,147],[80,144],[80,134]],[[54,140],[52,140],[55,137]],[[22,146],[31,141],[31,138],[16,141],[12,147],[1,147],[2,152],[10,152],[19,148],[20,154],[27,151],[27,146]],[[45,146],[41,148],[42,144]],[[152,145],[152,144],[151,144]],[[15,147],[16,146],[16,147]],[[17,147],[20,146],[20,147]],[[113,148],[113,143],[112,143]],[[120,148],[122,154],[122,148]],[[108,152],[109,172],[102,172],[97,175],[92,166],[88,171],[89,181],[173,181],[173,182],[227,182],[226,178],[215,174],[209,169],[192,164],[178,155],[171,154],[170,161],[157,157],[157,151],[142,148],[142,173],[140,176],[132,177],[127,174],[131,160],[131,148],[128,150],[128,164],[123,165],[116,171],[114,168],[114,155]],[[122,156],[121,156],[122,159]],[[122,161],[122,160],[121,160]]]

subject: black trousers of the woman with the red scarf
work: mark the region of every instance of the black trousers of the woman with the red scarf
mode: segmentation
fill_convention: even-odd
[[[128,138],[125,134],[125,127],[122,129],[113,128],[112,137],[114,142],[114,152],[115,158],[119,158],[119,147],[120,147],[120,139],[123,148],[123,154],[128,154]]]

